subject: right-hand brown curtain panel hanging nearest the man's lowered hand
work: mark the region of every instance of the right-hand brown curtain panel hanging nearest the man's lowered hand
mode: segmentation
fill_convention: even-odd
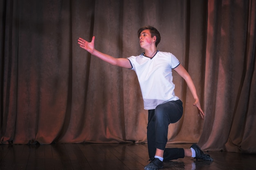
[[[254,1],[208,2],[204,94],[209,117],[199,140],[204,150],[256,151],[255,7]]]

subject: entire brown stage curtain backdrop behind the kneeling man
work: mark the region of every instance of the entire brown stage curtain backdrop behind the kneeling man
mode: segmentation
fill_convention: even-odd
[[[146,142],[135,72],[81,49],[138,55],[137,30],[156,27],[195,83],[205,119],[175,72],[182,119],[168,143],[256,153],[254,0],[3,0],[0,2],[2,144]]]

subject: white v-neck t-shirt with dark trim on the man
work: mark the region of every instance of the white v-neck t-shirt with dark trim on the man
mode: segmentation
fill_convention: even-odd
[[[128,60],[132,65],[131,69],[137,74],[145,110],[179,99],[174,93],[172,69],[180,65],[180,62],[173,54],[157,51],[152,59],[142,53],[130,56]]]

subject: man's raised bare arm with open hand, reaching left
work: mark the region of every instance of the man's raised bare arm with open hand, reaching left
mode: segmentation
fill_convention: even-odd
[[[110,63],[111,65],[116,65],[116,66],[124,67],[128,69],[132,68],[130,61],[127,58],[115,58],[108,54],[104,54],[104,53],[101,53],[100,51],[97,51],[94,48],[94,40],[95,40],[95,36],[92,37],[91,42],[88,42],[83,38],[79,38],[78,44],[80,45],[81,48],[85,49],[92,55],[97,56],[101,60],[106,61],[107,63]]]

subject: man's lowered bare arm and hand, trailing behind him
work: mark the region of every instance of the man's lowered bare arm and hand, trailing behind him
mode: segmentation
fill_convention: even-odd
[[[201,108],[200,101],[199,101],[199,98],[198,98],[198,94],[196,92],[195,85],[194,85],[194,83],[192,81],[191,76],[189,75],[189,73],[186,71],[186,69],[181,64],[178,67],[176,67],[174,70],[180,76],[182,76],[182,78],[184,78],[184,80],[186,81],[186,84],[189,86],[189,89],[190,89],[193,97],[195,98],[195,103],[193,105],[197,107],[198,115],[200,114],[202,119],[204,119],[204,112],[203,112],[203,110]]]

